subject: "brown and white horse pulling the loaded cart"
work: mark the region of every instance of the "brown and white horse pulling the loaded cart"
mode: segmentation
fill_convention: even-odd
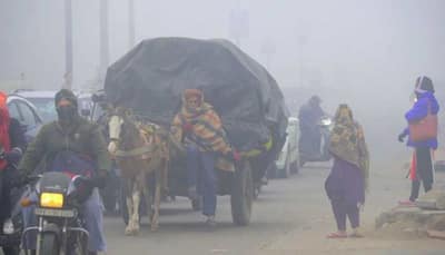
[[[161,193],[167,190],[169,165],[168,131],[155,124],[142,124],[120,107],[109,110],[108,150],[116,159],[123,180],[128,209],[126,235],[139,233],[139,205],[146,198],[150,212],[151,231],[159,227]],[[151,210],[150,187],[147,182],[155,175],[154,212]]]

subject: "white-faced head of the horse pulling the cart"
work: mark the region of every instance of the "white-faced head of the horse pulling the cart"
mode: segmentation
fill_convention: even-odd
[[[126,121],[127,115],[128,111],[120,107],[109,110],[108,128],[110,144],[108,145],[108,151],[110,154],[116,154],[116,151],[118,150],[118,146],[122,137],[122,127]]]

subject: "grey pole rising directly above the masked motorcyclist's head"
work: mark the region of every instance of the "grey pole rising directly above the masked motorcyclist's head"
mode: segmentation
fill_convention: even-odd
[[[65,0],[65,75],[63,88],[72,89],[72,6]]]

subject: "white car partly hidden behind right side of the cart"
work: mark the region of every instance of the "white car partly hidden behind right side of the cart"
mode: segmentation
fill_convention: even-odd
[[[278,156],[276,164],[276,176],[281,178],[289,177],[293,173],[298,173],[299,151],[298,151],[298,119],[290,117],[287,125],[286,143]]]

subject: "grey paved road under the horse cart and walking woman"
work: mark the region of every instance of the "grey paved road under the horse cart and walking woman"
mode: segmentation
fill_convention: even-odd
[[[443,254],[441,244],[445,248],[445,242],[429,244],[428,239],[365,238],[363,243],[346,241],[349,242],[346,244],[327,241],[324,236],[335,227],[324,193],[328,171],[322,165],[306,168],[289,179],[271,180],[255,202],[251,224],[247,227],[233,225],[228,197],[219,197],[218,226],[214,231],[205,227],[202,216],[190,209],[187,199],[162,204],[160,228],[156,233],[149,231],[145,218],[140,235],[127,237],[121,218],[107,217],[108,254]],[[374,192],[364,216],[368,225],[373,225],[379,210],[389,208],[408,192],[409,184],[398,178],[398,173],[396,180],[388,173],[374,173]],[[414,243],[415,247],[427,248],[412,251],[408,247]],[[338,248],[340,252],[335,252]]]

